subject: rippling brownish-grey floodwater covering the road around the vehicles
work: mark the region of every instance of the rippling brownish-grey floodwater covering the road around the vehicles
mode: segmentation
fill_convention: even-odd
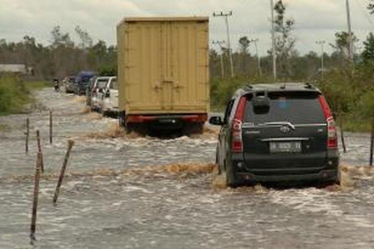
[[[374,246],[370,137],[346,134],[342,164],[355,183],[339,188],[217,189],[213,174],[175,172],[163,165],[213,163],[214,132],[157,139],[114,136],[116,120],[86,113],[84,100],[44,89],[29,115],[30,151],[24,153],[26,115],[0,117],[0,248],[363,248]],[[54,140],[48,141],[53,109]],[[34,246],[29,226],[36,160],[34,132],[42,135]],[[52,204],[67,140],[74,139],[67,177]],[[355,168],[356,167],[356,168]],[[357,169],[357,170],[356,170]]]

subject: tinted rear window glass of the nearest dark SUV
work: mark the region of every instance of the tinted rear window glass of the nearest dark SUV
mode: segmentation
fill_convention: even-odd
[[[290,122],[292,124],[325,123],[325,115],[319,102],[318,93],[313,92],[271,92],[270,107],[254,110],[247,97],[244,114],[245,123],[263,124],[268,122]]]

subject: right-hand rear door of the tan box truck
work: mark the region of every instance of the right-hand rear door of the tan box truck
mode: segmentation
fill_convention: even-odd
[[[177,110],[206,109],[208,94],[208,34],[204,23],[173,22],[172,79]]]

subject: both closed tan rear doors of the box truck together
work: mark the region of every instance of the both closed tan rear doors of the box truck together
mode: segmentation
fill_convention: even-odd
[[[129,21],[124,44],[132,112],[207,112],[208,19]]]

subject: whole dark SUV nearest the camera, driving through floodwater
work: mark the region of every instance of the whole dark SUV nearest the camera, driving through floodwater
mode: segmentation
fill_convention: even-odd
[[[335,123],[321,91],[310,84],[256,84],[229,101],[217,145],[219,173],[229,186],[246,182],[339,182]]]

